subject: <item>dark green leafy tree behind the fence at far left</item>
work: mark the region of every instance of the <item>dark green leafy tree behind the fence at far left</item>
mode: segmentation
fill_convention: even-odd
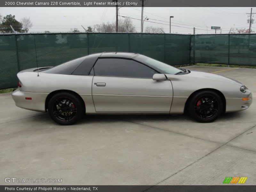
[[[15,19],[15,15],[6,15],[3,19],[3,22],[1,24],[1,32],[3,33],[12,33],[12,28],[10,27],[12,25],[13,29],[17,32],[23,32],[22,30],[22,23],[17,21]]]

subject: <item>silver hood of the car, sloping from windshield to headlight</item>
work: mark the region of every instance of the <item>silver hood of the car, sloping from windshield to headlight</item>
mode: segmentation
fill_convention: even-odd
[[[234,79],[231,79],[231,78],[228,78],[228,77],[224,77],[224,76],[220,76],[220,75],[216,75],[216,74],[213,74],[213,73],[206,73],[206,72],[199,72],[199,71],[190,71],[190,73],[187,74],[187,75],[195,76],[195,77],[209,78],[209,79],[216,79],[216,80],[226,81],[226,82],[230,82],[230,83],[234,83],[234,84],[243,86],[242,83],[240,83],[240,82],[238,82],[238,81],[236,81]]]

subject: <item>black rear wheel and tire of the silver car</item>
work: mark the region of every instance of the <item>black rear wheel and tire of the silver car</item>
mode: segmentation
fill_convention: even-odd
[[[57,93],[49,100],[48,112],[56,123],[70,125],[84,115],[84,104],[72,93]]]

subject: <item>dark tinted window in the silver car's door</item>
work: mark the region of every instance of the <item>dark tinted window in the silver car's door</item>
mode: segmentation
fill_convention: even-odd
[[[98,59],[94,73],[96,76],[152,78],[155,70],[134,60],[109,58]]]

